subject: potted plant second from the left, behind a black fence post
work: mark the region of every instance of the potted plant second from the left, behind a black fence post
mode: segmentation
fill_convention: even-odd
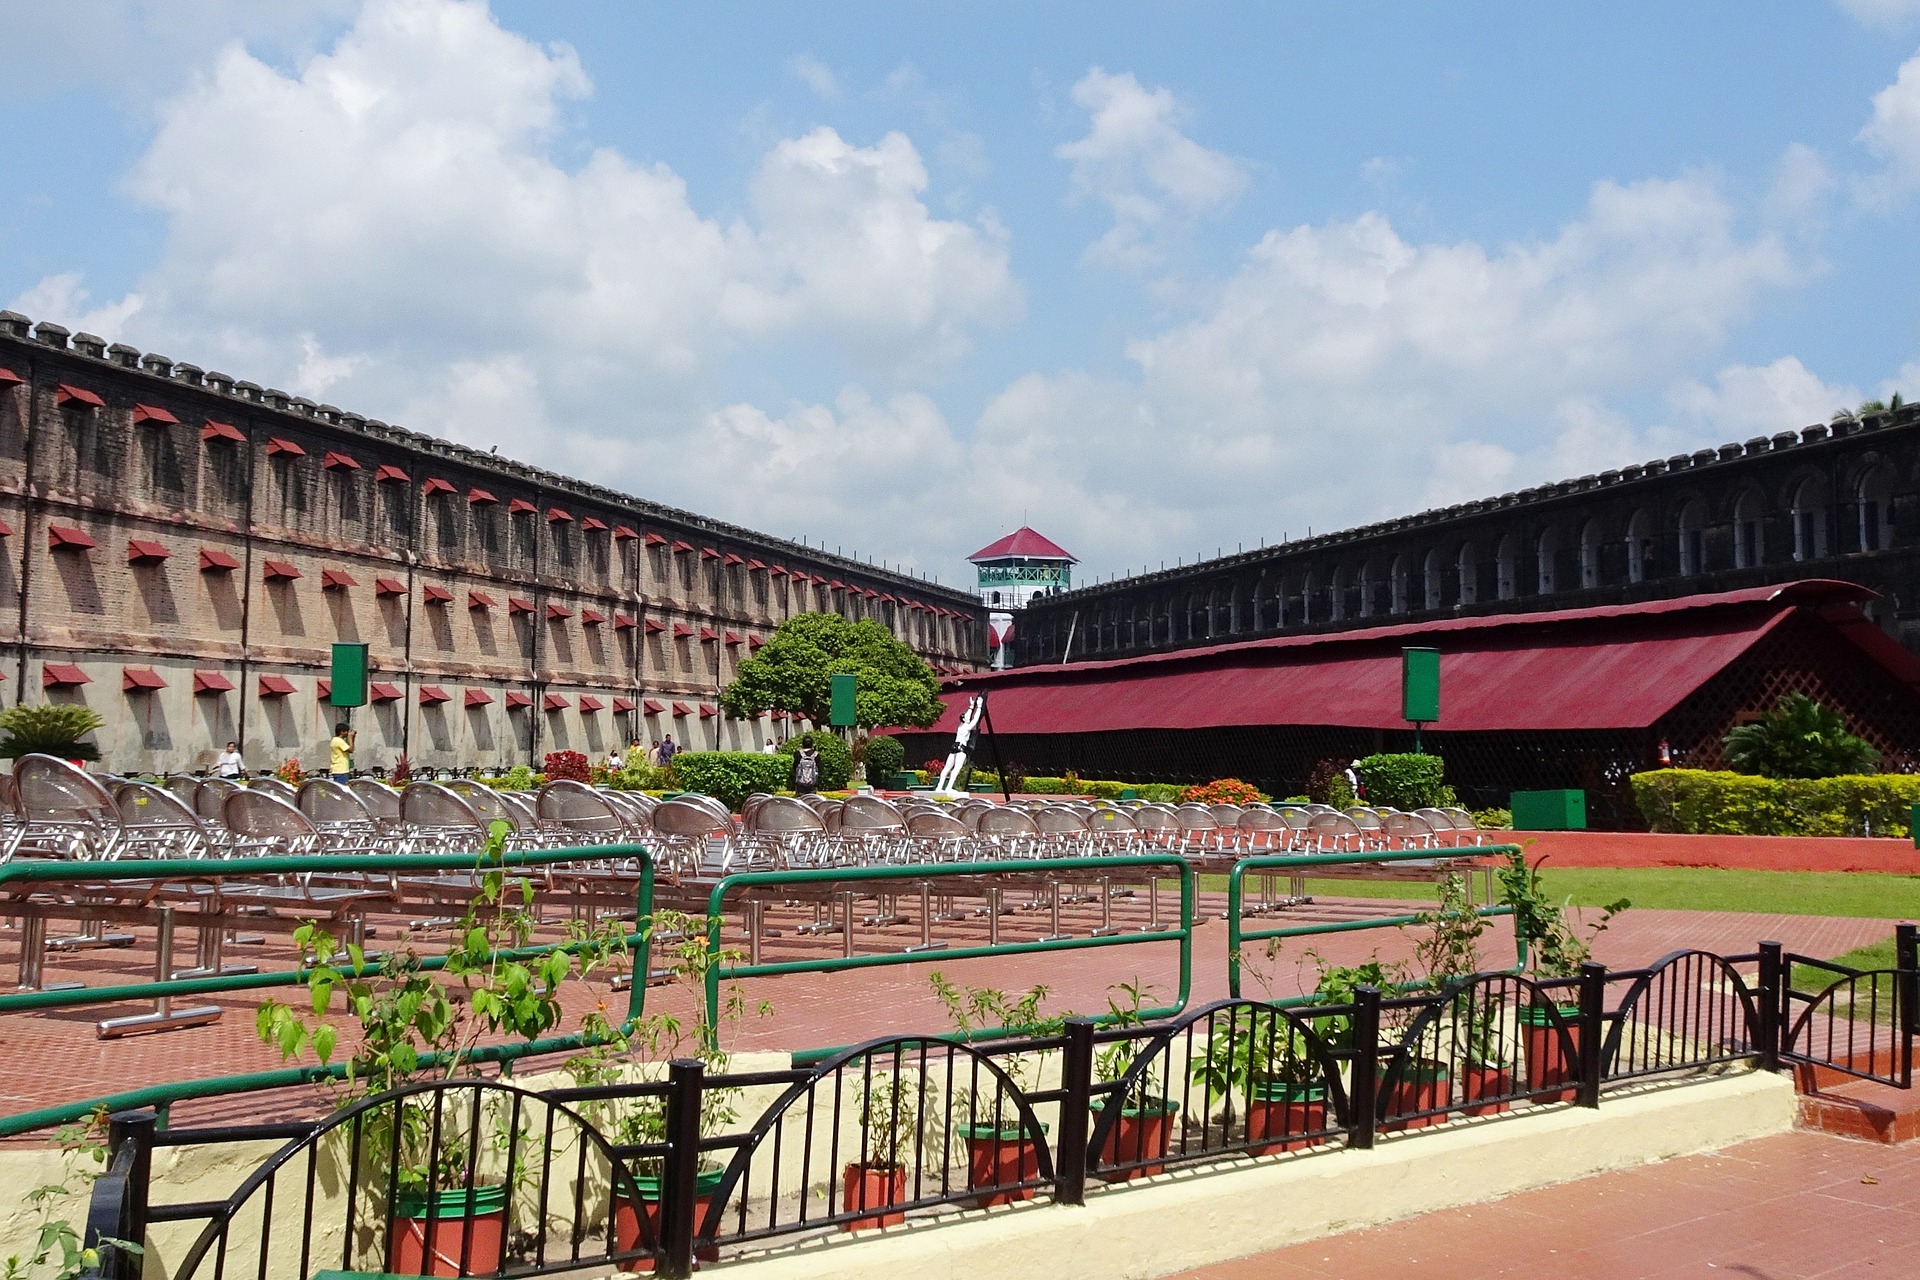
[[[737,983],[724,988],[716,1019],[707,1015],[707,977],[716,967],[743,961],[747,956],[739,948],[707,950],[707,931],[712,921],[705,915],[684,912],[655,912],[647,921],[649,938],[655,946],[651,958],[655,973],[668,975],[668,984],[676,986],[684,1004],[693,1007],[691,1021],[670,1011],[647,1013],[628,1027],[612,1027],[605,1013],[588,1013],[588,1032],[595,1040],[591,1048],[566,1061],[566,1073],[574,1082],[614,1084],[624,1075],[624,1065],[634,1055],[645,1061],[668,1061],[674,1057],[697,1057],[708,1073],[722,1073],[733,1061],[730,1050],[722,1046],[722,1031],[737,1029],[747,1015],[747,998]],[[770,1007],[762,1004],[760,1015]],[[701,1090],[701,1138],[726,1132],[728,1125],[739,1121],[741,1090],[703,1088]],[[614,1102],[589,1102],[582,1113],[591,1119],[616,1146],[645,1146],[666,1142],[666,1107],[659,1098],[634,1098],[624,1105]],[[703,1155],[693,1184],[693,1230],[707,1221],[712,1197],[726,1178],[726,1167]],[[641,1221],[647,1222],[647,1236],[660,1236],[660,1190],[662,1169],[659,1157],[647,1157],[634,1167],[634,1186],[637,1201],[628,1196],[614,1199],[614,1251],[626,1253],[641,1244]],[[701,1261],[716,1261],[718,1247],[710,1242],[695,1247]],[[651,1257],[636,1257],[620,1265],[624,1270],[653,1270]]]

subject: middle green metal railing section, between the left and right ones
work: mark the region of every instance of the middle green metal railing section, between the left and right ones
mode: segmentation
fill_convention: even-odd
[[[952,946],[931,950],[879,952],[868,956],[820,956],[810,960],[780,960],[760,963],[722,963],[720,954],[720,912],[726,896],[741,889],[766,887],[812,887],[822,885],[931,885],[933,892],[950,892],[941,885],[958,881],[979,881],[991,877],[1079,877],[1087,873],[1131,873],[1142,877],[1148,869],[1165,871],[1165,879],[1181,883],[1181,917],[1171,929],[1135,929],[1081,938],[1041,938],[1035,942],[998,942],[989,946]],[[849,925],[851,927],[851,919]],[[1140,942],[1179,942],[1179,996],[1173,1004],[1156,1009],[1140,1009],[1140,1017],[1173,1017],[1187,1007],[1192,992],[1192,931],[1194,931],[1194,869],[1179,854],[1127,854],[1104,858],[1018,858],[996,862],[964,864],[924,864],[904,867],[822,867],[806,871],[741,871],[728,875],[707,898],[707,952],[712,963],[707,967],[707,1015],[708,1025],[718,1025],[720,983],[745,977],[774,977],[781,973],[841,973],[843,969],[872,969],[883,965],[925,963],[927,960],[979,960],[985,956],[1029,956],[1044,952],[1077,952],[1094,946],[1135,946]],[[977,1036],[993,1036],[1002,1029],[981,1031]]]

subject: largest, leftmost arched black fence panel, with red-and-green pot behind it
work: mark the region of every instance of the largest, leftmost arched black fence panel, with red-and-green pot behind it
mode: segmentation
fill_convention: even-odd
[[[643,1088],[622,1092],[622,1105],[659,1105]],[[659,1238],[628,1161],[660,1150],[618,1151],[584,1115],[591,1105],[493,1080],[367,1098],[211,1205],[173,1280],[651,1268]]]

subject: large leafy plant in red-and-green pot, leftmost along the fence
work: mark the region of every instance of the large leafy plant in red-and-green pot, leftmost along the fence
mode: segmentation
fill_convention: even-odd
[[[566,950],[515,958],[532,940],[532,883],[509,879],[499,865],[509,823],[495,821],[480,854],[474,898],[451,929],[434,975],[407,936],[369,963],[357,944],[344,950],[311,921],[294,931],[294,946],[313,956],[309,1006],[261,1004],[259,1038],[294,1059],[309,1054],[332,1069],[338,1029],[326,1021],[336,996],[359,1023],[359,1046],[340,1071],[328,1071],[334,1103],[348,1107],[405,1084],[451,1080],[482,1038],[536,1040],[561,1023],[563,984],[624,950],[624,931],[607,921],[580,927]],[[461,1000],[449,986],[461,988]],[[511,1132],[511,1107],[480,1107],[478,1117],[438,1105],[434,1092],[396,1098],[367,1111],[351,1153],[359,1184],[384,1205],[388,1222],[378,1267],[422,1276],[488,1276],[505,1265],[507,1169],[538,1165]],[[392,1267],[384,1263],[392,1259]]]

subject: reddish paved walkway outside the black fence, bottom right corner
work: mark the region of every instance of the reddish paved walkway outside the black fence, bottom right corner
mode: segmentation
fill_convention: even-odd
[[[1177,1280],[1914,1276],[1920,1144],[1780,1134],[1331,1236]]]

